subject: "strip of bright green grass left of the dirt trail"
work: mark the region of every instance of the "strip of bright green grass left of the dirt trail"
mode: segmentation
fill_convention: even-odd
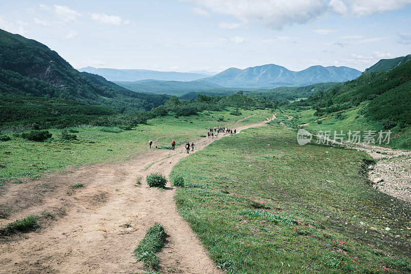
[[[207,133],[211,126],[235,123],[242,117],[257,113],[252,119],[243,121],[252,123],[266,119],[271,113],[265,111],[265,114],[261,114],[261,110],[242,111],[242,116],[238,117],[230,115],[230,109],[207,112],[210,115],[203,112],[190,117],[159,117],[130,131],[120,132],[120,129],[113,127],[114,130],[107,132],[110,131],[107,127],[88,125],[69,128],[68,131],[78,131],[76,135],[79,140],[54,138],[61,135],[61,130],[49,130],[53,137],[45,142],[12,137],[9,141],[0,142],[0,178],[37,177],[68,166],[132,159],[148,149],[149,139],[160,137],[153,144],[159,148],[171,145],[173,139],[176,144],[196,141],[200,138],[199,135]],[[221,115],[225,117],[225,121],[215,122],[216,117]]]

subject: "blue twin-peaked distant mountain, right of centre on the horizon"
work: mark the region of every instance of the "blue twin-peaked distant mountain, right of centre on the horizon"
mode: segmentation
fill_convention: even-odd
[[[311,66],[301,71],[291,71],[283,66],[268,64],[246,69],[232,67],[201,80],[228,87],[273,88],[344,82],[356,79],[360,75],[361,71],[349,67]]]

